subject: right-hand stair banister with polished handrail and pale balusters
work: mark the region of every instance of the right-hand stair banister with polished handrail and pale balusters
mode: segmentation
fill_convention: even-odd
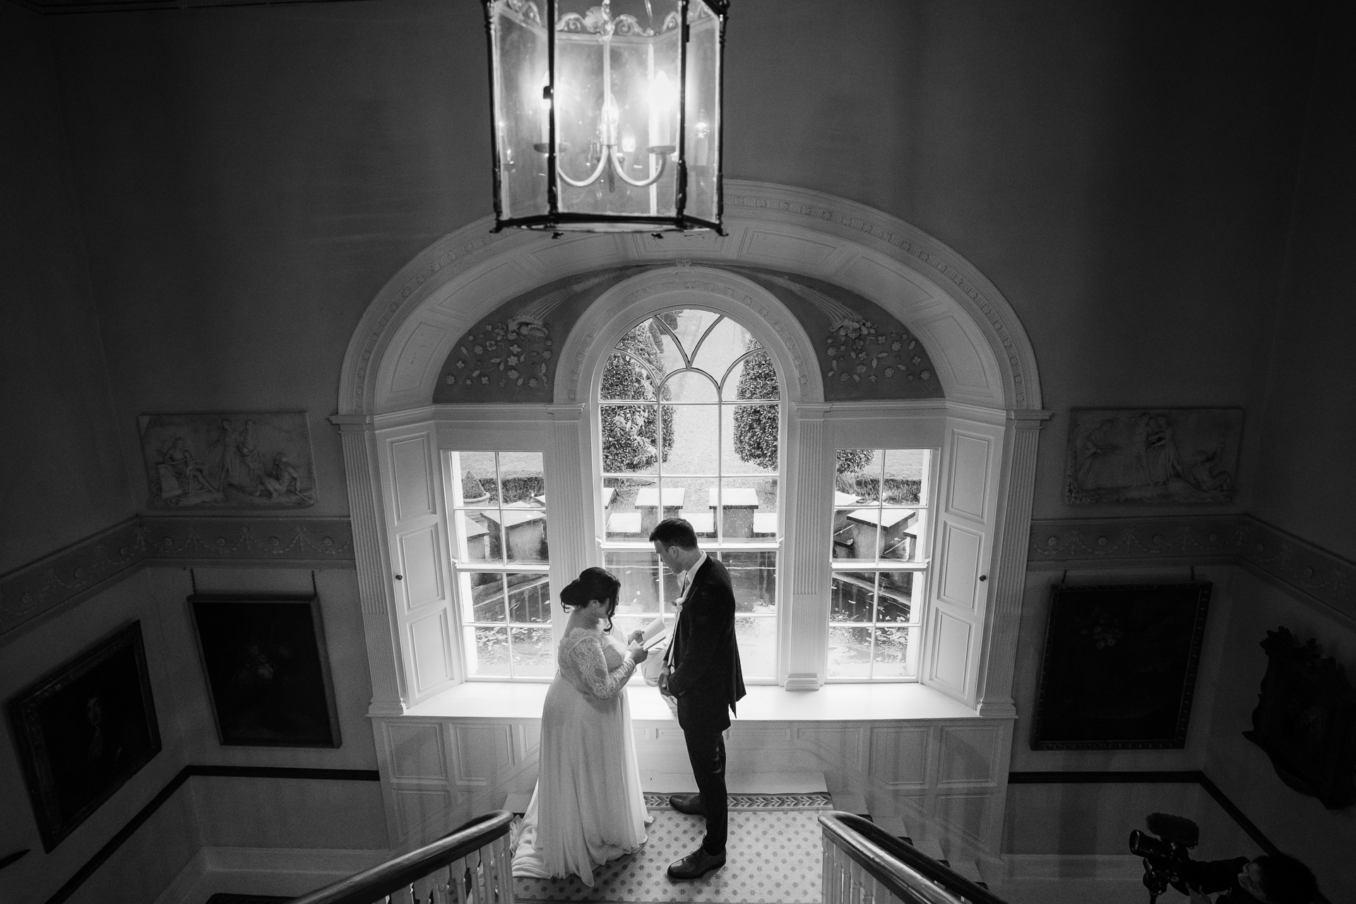
[[[824,829],[824,904],[887,904],[854,871],[865,871],[880,890],[906,904],[1006,904],[868,819],[830,810],[819,816],[819,824]],[[839,852],[858,870],[845,869]]]

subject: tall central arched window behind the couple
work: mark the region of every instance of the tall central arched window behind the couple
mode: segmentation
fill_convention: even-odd
[[[782,393],[772,358],[724,314],[664,310],[617,342],[595,401],[617,630],[671,614],[678,583],[647,538],[683,518],[730,569],[746,679],[776,680]]]

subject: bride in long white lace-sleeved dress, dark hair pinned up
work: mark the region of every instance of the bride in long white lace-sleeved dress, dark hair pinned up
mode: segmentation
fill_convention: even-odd
[[[513,858],[514,876],[575,874],[593,886],[595,866],[645,843],[636,741],[626,680],[648,656],[606,633],[621,581],[586,568],[560,594],[572,610],[556,680],[541,713],[537,787]]]

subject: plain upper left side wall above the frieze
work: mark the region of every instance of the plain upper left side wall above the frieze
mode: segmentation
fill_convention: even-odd
[[[49,23],[0,9],[0,573],[133,512]]]

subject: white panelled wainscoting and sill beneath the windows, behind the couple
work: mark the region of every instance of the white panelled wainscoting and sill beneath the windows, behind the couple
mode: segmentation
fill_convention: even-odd
[[[462,699],[462,713],[422,706],[373,717],[395,844],[433,839],[500,808],[510,794],[532,793],[541,741],[537,701],[545,686],[496,687],[503,689],[461,686],[468,697],[479,695],[479,702]],[[496,693],[503,699],[494,716],[484,698]],[[658,694],[647,687],[629,693],[641,770],[690,771],[682,729]],[[887,698],[894,705],[881,706]],[[860,798],[873,817],[898,819],[915,839],[974,858],[999,852],[1010,744],[1010,720],[978,718],[917,684],[829,686],[812,694],[750,689],[727,733],[731,775],[766,782],[777,774],[823,773],[837,800]]]

